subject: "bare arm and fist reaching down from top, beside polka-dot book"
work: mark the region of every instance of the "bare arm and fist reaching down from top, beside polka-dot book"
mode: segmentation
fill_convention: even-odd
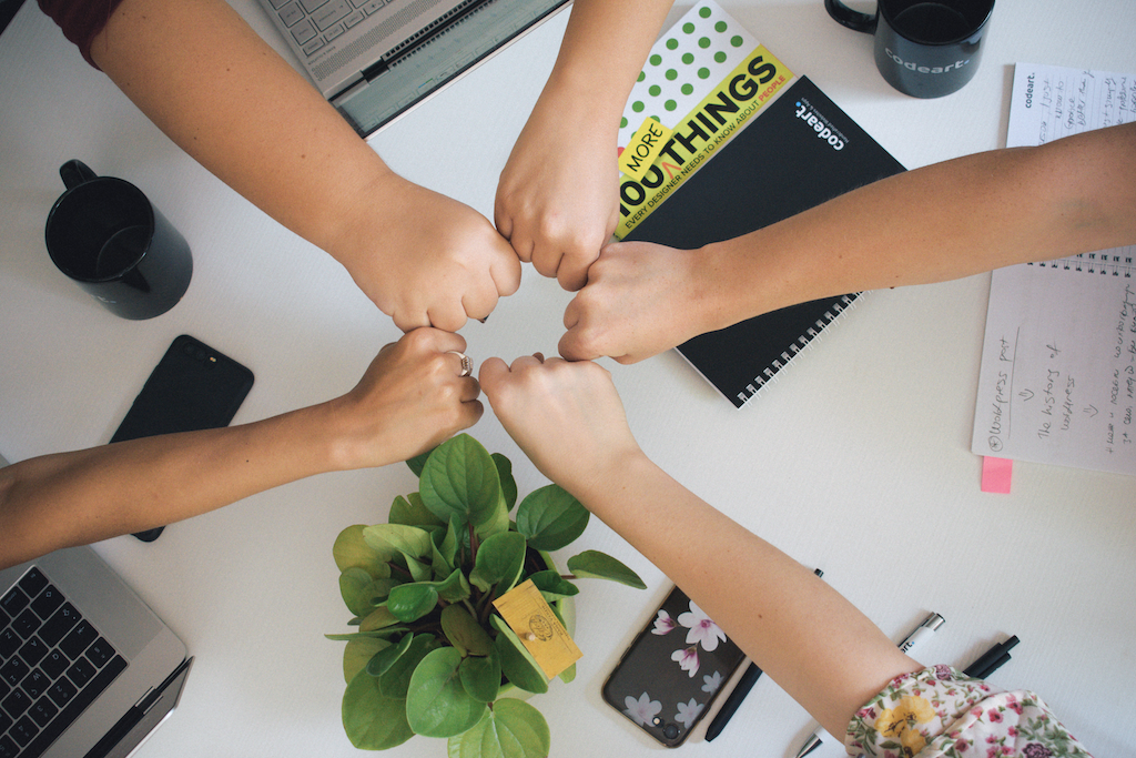
[[[521,260],[566,290],[616,228],[619,119],[671,0],[576,0],[556,67],[513,147],[494,217]]]

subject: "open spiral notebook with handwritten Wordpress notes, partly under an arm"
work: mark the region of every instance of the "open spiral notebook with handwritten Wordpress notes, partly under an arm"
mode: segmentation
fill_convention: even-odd
[[[1008,145],[1136,120],[1136,75],[1019,64]],[[1136,248],[991,277],[971,450],[1136,475]]]

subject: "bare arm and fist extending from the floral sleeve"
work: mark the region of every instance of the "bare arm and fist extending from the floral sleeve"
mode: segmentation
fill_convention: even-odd
[[[833,734],[891,678],[921,668],[808,568],[652,464],[596,364],[494,358],[481,380],[536,467],[682,586]]]

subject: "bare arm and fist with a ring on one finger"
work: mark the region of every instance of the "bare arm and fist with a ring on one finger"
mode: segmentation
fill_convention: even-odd
[[[446,352],[463,348],[456,334],[418,330],[383,348],[351,392],[318,406],[0,468],[0,567],[429,450],[481,417],[476,380],[459,377]]]

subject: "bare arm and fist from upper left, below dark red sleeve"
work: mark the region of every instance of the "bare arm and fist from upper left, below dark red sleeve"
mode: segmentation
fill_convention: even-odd
[[[403,330],[457,330],[520,282],[490,222],[399,177],[224,0],[123,0],[91,55],[218,178],[329,252]]]

